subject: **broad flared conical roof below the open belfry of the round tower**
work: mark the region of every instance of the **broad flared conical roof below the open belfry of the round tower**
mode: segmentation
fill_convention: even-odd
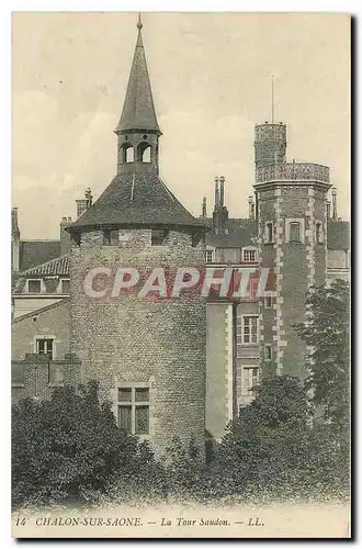
[[[191,215],[166,187],[156,166],[136,166],[129,164],[128,170],[115,176],[97,202],[69,227],[70,231],[101,225],[205,227],[204,221]]]

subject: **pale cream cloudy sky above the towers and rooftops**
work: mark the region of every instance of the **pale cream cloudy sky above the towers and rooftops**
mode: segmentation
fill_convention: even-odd
[[[229,216],[248,215],[254,124],[287,124],[287,160],[330,167],[349,219],[350,20],[344,14],[144,13],[160,175],[201,214],[226,178]],[[76,199],[116,171],[116,136],[137,14],[12,14],[12,205],[22,239],[58,238]]]

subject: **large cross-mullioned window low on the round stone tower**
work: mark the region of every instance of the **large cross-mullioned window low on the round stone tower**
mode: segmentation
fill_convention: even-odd
[[[118,389],[118,426],[129,435],[149,434],[149,388]]]

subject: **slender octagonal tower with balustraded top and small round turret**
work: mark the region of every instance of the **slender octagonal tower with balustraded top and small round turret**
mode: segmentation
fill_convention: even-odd
[[[268,165],[267,152],[278,150],[274,128],[278,128],[282,150],[286,145],[285,126],[269,126],[271,131],[265,124],[256,126],[259,253],[261,267],[274,273],[276,290],[272,302],[267,299],[261,302],[261,356],[268,356],[263,373],[303,378],[306,349],[294,325],[305,320],[308,290],[323,284],[327,276],[329,168],[317,164],[287,164],[282,153],[279,161],[273,161],[270,153]]]

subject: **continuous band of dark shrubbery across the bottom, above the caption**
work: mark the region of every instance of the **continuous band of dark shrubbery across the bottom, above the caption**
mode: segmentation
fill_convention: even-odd
[[[341,497],[348,444],[329,425],[310,425],[297,378],[265,379],[228,424],[214,459],[179,440],[156,462],[146,442],[116,426],[98,385],[58,389],[49,401],[13,406],[13,504],[178,500]]]

